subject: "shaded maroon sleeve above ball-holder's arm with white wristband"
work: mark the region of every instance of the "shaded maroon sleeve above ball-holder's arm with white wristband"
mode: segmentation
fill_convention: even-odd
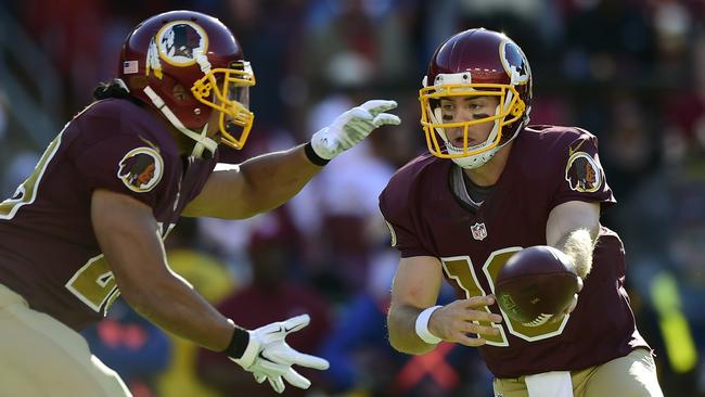
[[[395,175],[380,194],[380,212],[389,228],[392,246],[399,251],[402,258],[436,256],[424,247],[419,238],[416,217],[411,205],[412,194],[403,177]]]

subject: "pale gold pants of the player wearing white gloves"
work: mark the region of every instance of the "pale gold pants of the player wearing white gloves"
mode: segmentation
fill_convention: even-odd
[[[0,396],[129,397],[76,331],[0,284]]]

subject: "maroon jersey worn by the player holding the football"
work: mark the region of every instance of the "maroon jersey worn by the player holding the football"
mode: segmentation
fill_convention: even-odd
[[[440,259],[459,298],[493,293],[499,269],[514,253],[544,245],[549,213],[569,201],[615,203],[591,133],[565,127],[531,127],[513,143],[493,190],[474,210],[449,185],[453,163],[425,155],[397,171],[380,208],[402,257]],[[498,377],[579,370],[646,346],[624,289],[619,238],[601,228],[592,271],[578,306],[560,323],[526,326],[503,316],[480,354]],[[497,305],[489,310],[501,313]],[[485,325],[489,325],[485,323]]]

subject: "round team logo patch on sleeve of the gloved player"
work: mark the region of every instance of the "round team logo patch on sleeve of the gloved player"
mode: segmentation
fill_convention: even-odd
[[[152,148],[137,148],[120,159],[117,177],[138,193],[149,192],[162,180],[164,161]]]

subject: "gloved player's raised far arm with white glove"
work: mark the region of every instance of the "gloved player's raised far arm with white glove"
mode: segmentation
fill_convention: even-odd
[[[399,124],[399,117],[385,113],[396,106],[394,101],[368,101],[339,115],[307,144],[215,171],[182,215],[243,219],[277,208],[298,193],[323,165],[374,129]]]

